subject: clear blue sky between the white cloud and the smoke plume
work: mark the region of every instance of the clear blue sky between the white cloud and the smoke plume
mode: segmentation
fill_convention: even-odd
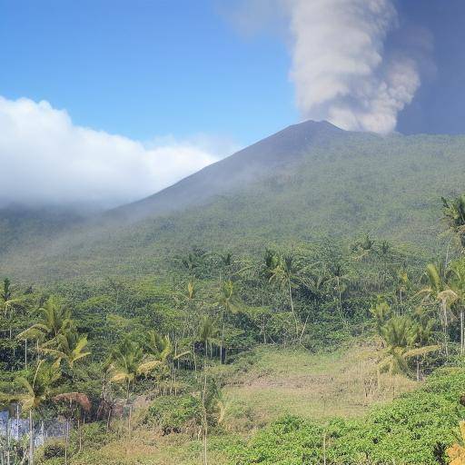
[[[279,37],[238,34],[210,0],[2,1],[0,94],[135,139],[239,143],[297,119]]]

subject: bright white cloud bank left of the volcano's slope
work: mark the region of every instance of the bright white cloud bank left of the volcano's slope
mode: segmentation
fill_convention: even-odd
[[[155,193],[227,149],[206,136],[141,143],[74,125],[45,101],[0,97],[0,202],[113,206]]]

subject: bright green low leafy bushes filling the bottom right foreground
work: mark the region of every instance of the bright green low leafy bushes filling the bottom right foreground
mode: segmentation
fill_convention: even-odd
[[[232,463],[249,465],[445,464],[463,415],[464,369],[443,369],[418,391],[377,407],[361,420],[327,424],[285,417],[247,444],[231,447]]]

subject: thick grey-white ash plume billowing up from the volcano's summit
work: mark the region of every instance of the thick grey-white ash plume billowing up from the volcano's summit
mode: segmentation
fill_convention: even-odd
[[[420,86],[415,61],[384,43],[398,24],[390,0],[284,0],[291,78],[305,118],[387,134]]]

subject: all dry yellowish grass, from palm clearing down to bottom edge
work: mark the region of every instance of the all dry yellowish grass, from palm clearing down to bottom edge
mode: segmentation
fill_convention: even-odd
[[[262,346],[231,365],[212,367],[212,373],[226,382],[227,410],[221,429],[209,439],[209,462],[227,465],[225,444],[250,437],[285,414],[313,420],[360,417],[370,405],[418,386],[405,377],[382,374],[378,389],[378,356],[373,341],[320,353]],[[70,465],[200,465],[202,447],[198,438],[183,433],[161,436],[142,423],[134,424],[129,437],[126,423],[115,421],[110,440],[92,449],[84,446]]]

